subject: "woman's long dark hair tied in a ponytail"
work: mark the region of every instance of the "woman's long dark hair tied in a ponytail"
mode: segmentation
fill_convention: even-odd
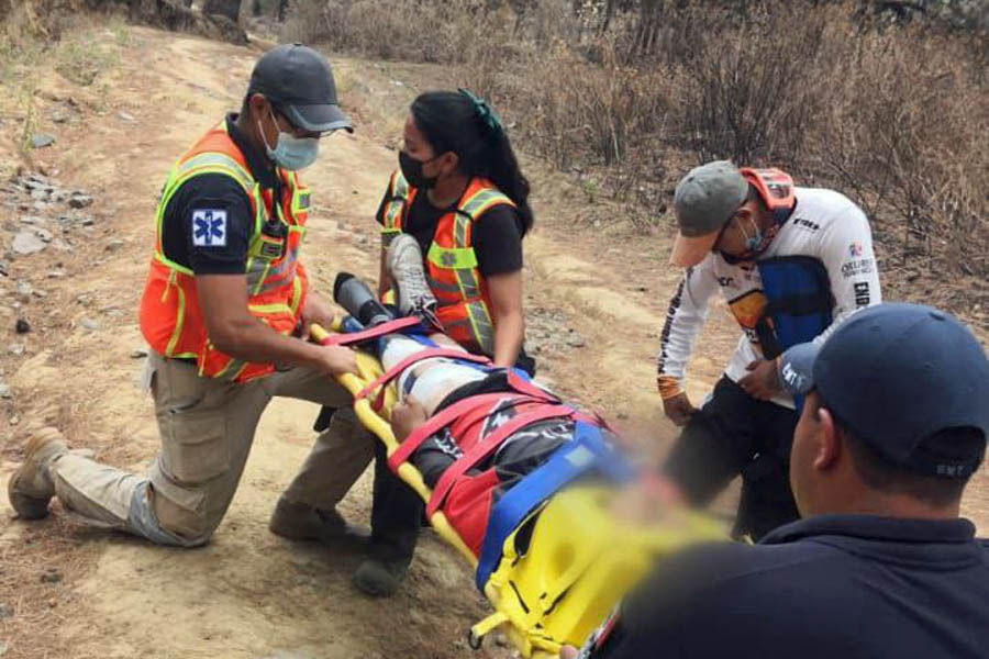
[[[457,154],[457,168],[469,177],[490,179],[515,202],[524,235],[534,222],[529,180],[519,168],[508,135],[482,118],[477,103],[458,91],[429,91],[412,102],[412,119],[435,155]]]

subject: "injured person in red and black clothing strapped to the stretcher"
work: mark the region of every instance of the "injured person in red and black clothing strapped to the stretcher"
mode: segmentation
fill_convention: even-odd
[[[478,364],[441,333],[386,334],[364,347],[386,372],[399,368],[391,426],[402,447],[392,465],[408,460],[431,490],[443,489],[442,509],[475,556],[500,495],[573,442],[578,418],[598,424],[521,371]],[[453,477],[455,465],[463,467]]]

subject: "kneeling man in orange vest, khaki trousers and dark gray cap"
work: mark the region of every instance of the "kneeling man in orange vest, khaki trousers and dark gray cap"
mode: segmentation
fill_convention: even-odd
[[[70,453],[54,428],[35,433],[8,484],[21,518],[45,517],[57,496],[93,526],[204,545],[233,500],[262,413],[285,396],[347,410],[316,438],[270,529],[332,545],[356,539],[335,505],[376,442],[332,377],[356,371],[355,357],[303,339],[333,311],[302,265],[310,203],[298,170],[316,158],[320,138],[341,129],[351,122],[321,54],[296,44],[258,59],[241,112],[179,158],[158,201],[140,315],[162,451],[136,474]],[[387,473],[375,482],[373,550],[411,557],[410,533],[379,523],[379,509],[400,506],[404,490],[388,495],[386,476],[401,485]],[[418,520],[405,526],[414,539]]]

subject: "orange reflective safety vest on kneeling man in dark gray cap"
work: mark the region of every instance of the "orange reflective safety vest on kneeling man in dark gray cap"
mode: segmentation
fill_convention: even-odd
[[[224,355],[210,340],[191,269],[167,256],[162,236],[165,209],[182,183],[204,174],[222,174],[243,187],[251,200],[254,232],[247,248],[247,309],[279,334],[296,328],[307,292],[307,277],[299,263],[299,248],[305,235],[309,213],[309,189],[295,172],[278,169],[285,192],[278,208],[273,209],[273,192],[262,190],[254,179],[244,155],[226,132],[226,122],[211,130],[179,158],[171,168],[158,201],[155,250],[141,300],[141,332],[152,349],[164,357],[195,359],[199,375],[244,382],[275,370],[274,364],[257,364]],[[275,210],[275,216],[287,225],[285,238],[273,238],[262,231]],[[193,217],[193,222],[196,222]],[[203,215],[202,228],[210,231],[211,217]],[[284,245],[282,245],[284,243]]]

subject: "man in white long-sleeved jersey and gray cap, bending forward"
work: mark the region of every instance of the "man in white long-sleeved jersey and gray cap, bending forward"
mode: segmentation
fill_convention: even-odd
[[[798,518],[787,459],[800,401],[780,388],[776,358],[820,344],[849,313],[880,301],[873,236],[843,194],[726,160],[684,177],[675,205],[680,235],[670,263],[687,270],[663,328],[658,384],[666,415],[686,427],[665,472],[673,493],[698,506],[741,474],[735,535],[758,539]],[[711,399],[694,410],[681,382],[719,289],[742,335]]]

